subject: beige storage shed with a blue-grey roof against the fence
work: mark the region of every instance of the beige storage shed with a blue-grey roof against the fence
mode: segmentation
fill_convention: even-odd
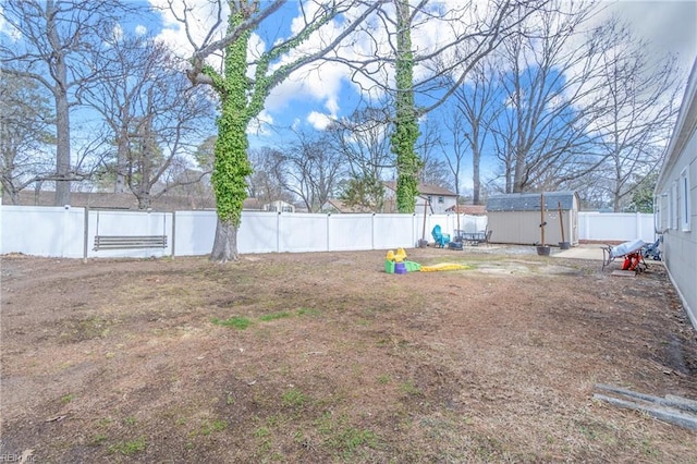
[[[487,199],[491,243],[541,244],[540,199],[545,197],[545,245],[564,242],[578,245],[578,195],[575,192],[519,193],[490,196]],[[561,207],[561,221],[560,221]]]

